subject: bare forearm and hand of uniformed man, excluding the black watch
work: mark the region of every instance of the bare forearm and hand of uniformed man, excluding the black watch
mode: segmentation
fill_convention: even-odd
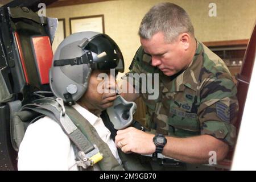
[[[154,135],[129,127],[117,131],[115,145],[125,153],[153,154]],[[216,151],[217,162],[223,160],[229,151],[229,146],[222,140],[210,135],[200,135],[188,138],[166,137],[167,143],[162,154],[185,163],[206,164],[209,152]]]

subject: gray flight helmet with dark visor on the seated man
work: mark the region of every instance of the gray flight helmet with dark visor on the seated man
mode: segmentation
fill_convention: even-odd
[[[124,71],[122,52],[106,34],[78,32],[57,47],[49,71],[49,84],[56,97],[69,105],[86,92],[94,69]]]

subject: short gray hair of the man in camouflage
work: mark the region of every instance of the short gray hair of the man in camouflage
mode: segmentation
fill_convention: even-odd
[[[194,35],[194,28],[186,11],[174,3],[159,3],[144,16],[139,27],[139,36],[150,39],[162,31],[167,42],[173,42],[177,36],[187,32]]]

